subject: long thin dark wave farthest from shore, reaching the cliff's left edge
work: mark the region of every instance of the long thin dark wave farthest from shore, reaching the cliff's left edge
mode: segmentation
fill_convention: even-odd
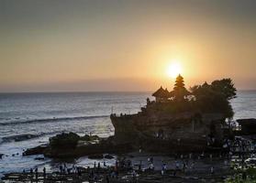
[[[109,115],[92,115],[92,116],[75,116],[75,117],[54,117],[54,118],[44,118],[44,119],[31,119],[26,121],[13,121],[13,122],[6,122],[0,123],[2,125],[16,125],[16,124],[35,124],[35,123],[52,123],[52,122],[64,122],[64,121],[73,121],[73,120],[88,120],[88,119],[95,119],[95,118],[105,118]]]

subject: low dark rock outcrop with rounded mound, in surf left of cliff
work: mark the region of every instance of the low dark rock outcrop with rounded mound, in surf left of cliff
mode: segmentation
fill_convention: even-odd
[[[74,133],[69,133],[51,137],[49,145],[30,148],[23,153],[23,156],[43,154],[48,157],[67,158],[121,154],[132,150],[133,146],[130,143],[117,143],[113,137],[107,139],[99,138],[96,135],[84,135],[81,137]]]

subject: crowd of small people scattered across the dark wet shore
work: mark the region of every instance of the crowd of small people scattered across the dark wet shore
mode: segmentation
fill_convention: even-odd
[[[164,175],[168,174],[170,175],[170,172],[173,172],[173,177],[176,177],[178,174],[185,174],[189,171],[194,171],[196,168],[196,164],[203,159],[213,160],[213,158],[219,158],[224,159],[224,164],[228,165],[228,162],[230,161],[231,156],[234,153],[239,153],[242,158],[242,162],[244,163],[244,152],[250,152],[251,150],[254,150],[254,146],[252,143],[246,139],[242,138],[236,138],[233,141],[228,140],[225,145],[227,145],[228,151],[225,151],[224,153],[205,153],[202,152],[201,154],[177,154],[174,156],[174,161],[172,161],[172,165],[170,165],[170,162],[166,162],[164,160],[161,161],[161,176],[164,177]],[[139,154],[141,154],[142,149],[139,148]],[[158,166],[159,170],[159,161],[157,162],[157,166],[155,165],[157,161],[154,160],[153,156],[148,157],[147,162],[143,162],[140,160],[139,164],[134,164],[131,162],[130,159],[126,157],[118,158],[116,160],[116,163],[114,166],[109,167],[106,166],[106,160],[104,159],[103,162],[95,162],[94,167],[76,167],[75,165],[67,166],[66,164],[61,164],[59,166],[59,174],[60,175],[75,175],[76,178],[81,178],[84,173],[88,175],[88,180],[92,182],[96,182],[100,179],[105,179],[107,183],[109,183],[113,179],[118,179],[120,172],[126,172],[128,173],[129,177],[133,182],[136,182],[138,176],[140,173],[143,172],[150,172],[155,171],[156,167]],[[168,167],[170,166],[170,167]],[[23,171],[24,173],[25,170]],[[30,169],[29,172],[33,177],[38,179],[39,177],[39,168],[36,167],[34,169]],[[208,169],[208,174],[215,174],[215,167],[211,166]],[[42,175],[43,178],[47,177],[46,167],[43,167],[42,169]]]

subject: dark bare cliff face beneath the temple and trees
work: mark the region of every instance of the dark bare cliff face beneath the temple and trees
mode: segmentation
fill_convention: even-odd
[[[138,113],[111,115],[116,139],[136,142],[164,142],[206,147],[209,138],[220,144],[224,137],[224,119],[220,113]]]

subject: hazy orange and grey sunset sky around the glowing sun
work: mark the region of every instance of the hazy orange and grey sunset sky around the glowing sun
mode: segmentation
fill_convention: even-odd
[[[256,89],[255,0],[0,0],[0,92]]]

